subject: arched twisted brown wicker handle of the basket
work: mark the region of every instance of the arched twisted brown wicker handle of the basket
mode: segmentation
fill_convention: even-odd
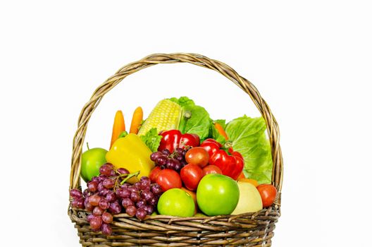
[[[109,92],[113,87],[118,85],[121,80],[129,76],[132,73],[154,66],[156,64],[173,64],[173,63],[189,63],[204,68],[210,68],[214,71],[221,73],[226,78],[230,79],[241,88],[244,92],[247,92],[249,97],[261,112],[261,116],[266,121],[268,137],[271,144],[271,154],[273,157],[273,174],[271,176],[271,183],[278,189],[278,196],[275,200],[275,204],[280,205],[280,192],[283,183],[283,157],[279,145],[279,127],[275,120],[275,117],[271,113],[268,104],[259,94],[259,91],[249,80],[239,76],[239,74],[233,70],[230,66],[209,59],[206,56],[199,54],[190,53],[174,53],[174,54],[151,54],[144,57],[140,61],[128,64],[123,68],[120,68],[113,76],[108,78],[102,83],[94,92],[89,102],[85,104],[80,113],[79,120],[77,123],[77,131],[73,139],[73,155],[71,160],[71,173],[70,173],[70,189],[77,188],[80,186],[80,169],[81,169],[81,156],[82,156],[82,145],[84,143],[85,133],[87,131],[87,123],[94,112],[94,109],[101,102],[102,98]]]

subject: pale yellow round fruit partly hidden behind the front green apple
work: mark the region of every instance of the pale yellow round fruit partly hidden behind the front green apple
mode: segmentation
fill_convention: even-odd
[[[252,183],[238,181],[237,186],[239,187],[240,198],[232,215],[257,212],[262,209],[261,195]]]

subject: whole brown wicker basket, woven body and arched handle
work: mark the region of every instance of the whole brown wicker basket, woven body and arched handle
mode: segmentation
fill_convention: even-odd
[[[87,222],[88,212],[68,207],[82,246],[271,246],[275,223],[280,217],[280,191],[283,181],[283,158],[279,128],[270,108],[254,85],[226,64],[199,54],[152,54],[128,64],[94,91],[82,109],[73,140],[70,189],[80,188],[80,162],[87,123],[102,97],[132,73],[156,64],[190,63],[218,71],[247,92],[266,121],[273,157],[272,183],[278,189],[273,206],[256,213],[215,217],[171,217],[156,215],[140,222],[126,214],[114,215],[113,234],[93,232]]]

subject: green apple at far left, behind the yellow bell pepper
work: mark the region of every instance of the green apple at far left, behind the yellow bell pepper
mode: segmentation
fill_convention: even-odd
[[[106,163],[106,152],[104,148],[94,147],[82,153],[80,175],[85,182],[99,175],[99,168]]]

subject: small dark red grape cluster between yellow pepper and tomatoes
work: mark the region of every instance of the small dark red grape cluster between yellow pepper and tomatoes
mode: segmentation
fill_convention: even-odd
[[[174,152],[169,152],[168,149],[164,149],[161,152],[153,152],[150,156],[151,160],[155,162],[155,164],[161,169],[173,169],[175,171],[180,171],[182,167],[185,167],[187,164],[185,160],[185,155],[187,150],[189,150],[190,147],[187,147],[185,149],[183,148],[176,148]]]

